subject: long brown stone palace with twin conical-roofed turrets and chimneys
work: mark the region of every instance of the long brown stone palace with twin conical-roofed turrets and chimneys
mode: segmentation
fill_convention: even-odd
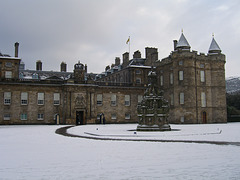
[[[126,52],[100,74],[87,72],[80,61],[73,72],[62,62],[60,71],[25,70],[18,57],[0,53],[0,124],[94,124],[138,122],[137,105],[148,86],[148,73],[157,74],[157,87],[169,104],[169,123],[227,122],[225,55],[214,37],[207,54],[192,51],[184,34],[174,49],[158,59],[147,47],[145,58]]]

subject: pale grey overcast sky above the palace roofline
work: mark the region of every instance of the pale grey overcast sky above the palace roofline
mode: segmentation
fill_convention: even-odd
[[[239,0],[0,0],[0,51],[19,57],[26,69],[72,71],[79,60],[100,73],[128,51],[156,47],[159,59],[173,50],[181,31],[191,49],[207,53],[214,33],[226,55],[226,77],[240,68]]]

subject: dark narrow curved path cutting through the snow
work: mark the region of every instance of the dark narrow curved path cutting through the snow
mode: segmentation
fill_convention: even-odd
[[[240,142],[227,142],[227,141],[196,141],[196,140],[163,140],[163,139],[123,139],[123,138],[101,138],[101,137],[89,137],[89,136],[81,136],[76,134],[70,134],[67,132],[67,129],[75,126],[66,126],[61,127],[55,131],[56,134],[60,134],[68,137],[77,137],[77,138],[85,138],[85,139],[94,139],[94,140],[110,140],[110,141],[145,141],[145,142],[176,142],[176,143],[198,143],[198,144],[214,144],[214,145],[234,145],[240,146]],[[86,133],[87,134],[87,133]]]

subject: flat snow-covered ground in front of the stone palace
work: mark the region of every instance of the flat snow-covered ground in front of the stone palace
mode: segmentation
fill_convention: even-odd
[[[240,123],[171,125],[137,132],[128,125],[86,125],[68,133],[140,140],[240,142]],[[240,146],[107,141],[55,134],[62,126],[0,126],[0,179],[239,179]],[[178,131],[177,131],[178,130]]]

